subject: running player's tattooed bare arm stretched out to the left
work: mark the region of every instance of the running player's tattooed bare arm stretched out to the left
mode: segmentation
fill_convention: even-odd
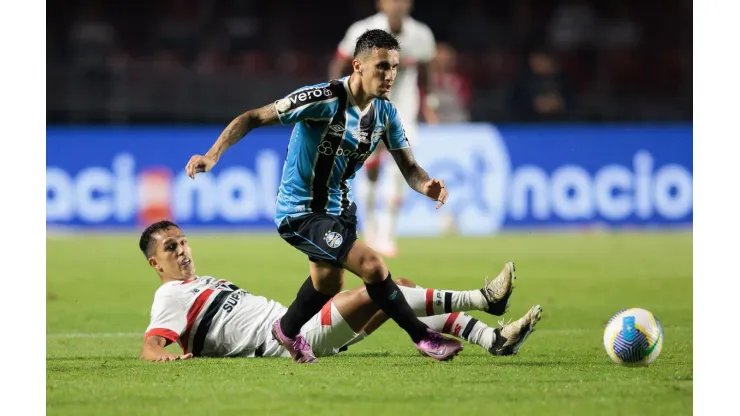
[[[213,169],[221,155],[231,146],[237,144],[244,136],[257,127],[277,124],[278,119],[275,104],[269,104],[262,108],[249,110],[229,123],[224,129],[211,149],[205,155],[195,155],[190,158],[185,166],[185,172],[191,178],[196,173],[208,172]]]

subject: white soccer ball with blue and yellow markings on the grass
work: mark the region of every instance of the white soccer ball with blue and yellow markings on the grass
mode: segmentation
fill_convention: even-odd
[[[606,324],[604,348],[617,364],[648,365],[663,349],[663,327],[658,318],[645,309],[623,309]]]

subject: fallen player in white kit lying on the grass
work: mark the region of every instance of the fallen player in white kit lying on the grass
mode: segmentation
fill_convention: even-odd
[[[271,324],[286,308],[232,282],[198,276],[187,237],[177,225],[169,221],[150,225],[141,235],[139,248],[162,281],[154,295],[141,358],[290,357],[270,334]],[[540,306],[501,328],[489,327],[464,313],[482,310],[503,315],[514,278],[514,264],[507,263],[482,289],[425,289],[405,279],[396,283],[419,319],[431,329],[479,345],[493,355],[514,355],[534,331]],[[303,325],[301,334],[317,356],[329,356],[361,341],[386,320],[361,286],[329,300]],[[182,347],[183,354],[164,349],[173,342]]]

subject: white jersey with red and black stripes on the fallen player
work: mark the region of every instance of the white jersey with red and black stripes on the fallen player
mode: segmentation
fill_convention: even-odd
[[[232,282],[200,276],[167,282],[154,294],[146,336],[177,342],[203,357],[253,357],[268,342],[270,325],[285,314],[280,303],[255,296]],[[269,351],[272,355],[273,351]]]

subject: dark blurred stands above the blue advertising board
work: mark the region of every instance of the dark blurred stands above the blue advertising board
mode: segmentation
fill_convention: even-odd
[[[47,4],[47,123],[223,123],[328,79],[375,0]],[[442,121],[692,119],[692,3],[416,0]]]

